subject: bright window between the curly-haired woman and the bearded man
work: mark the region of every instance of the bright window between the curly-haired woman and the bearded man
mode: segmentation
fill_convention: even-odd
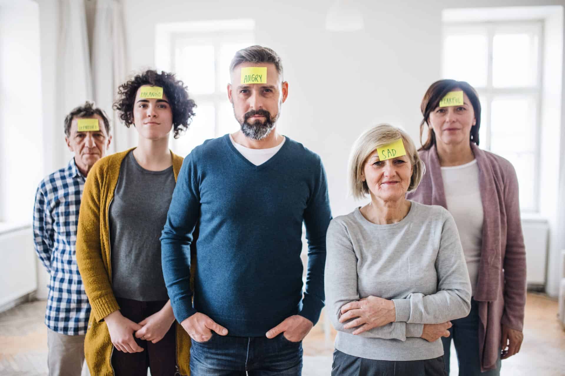
[[[203,141],[239,129],[227,98],[229,64],[237,50],[254,44],[254,23],[172,24],[167,35],[167,69],[188,86],[197,104],[189,130],[171,144],[175,153],[186,156]]]

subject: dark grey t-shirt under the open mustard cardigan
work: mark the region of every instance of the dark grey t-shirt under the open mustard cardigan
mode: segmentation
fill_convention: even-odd
[[[159,237],[175,189],[173,167],[149,171],[129,152],[110,204],[112,287],[119,298],[168,300]]]

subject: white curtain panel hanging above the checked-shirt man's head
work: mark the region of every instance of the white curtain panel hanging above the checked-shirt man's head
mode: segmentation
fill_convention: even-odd
[[[58,96],[58,118],[73,108],[93,99],[92,77],[90,76],[90,54],[86,12],[83,1],[59,0],[60,36],[58,51],[58,87],[44,88]]]

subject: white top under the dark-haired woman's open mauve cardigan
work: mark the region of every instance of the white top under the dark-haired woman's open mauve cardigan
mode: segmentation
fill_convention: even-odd
[[[483,245],[483,201],[477,160],[460,166],[441,167],[441,177],[447,210],[457,224],[474,294]]]

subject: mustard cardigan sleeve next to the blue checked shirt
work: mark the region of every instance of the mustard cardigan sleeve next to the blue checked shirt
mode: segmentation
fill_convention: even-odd
[[[103,165],[96,163],[84,184],[76,234],[76,262],[94,319],[98,322],[120,309],[102,259],[100,223]]]

